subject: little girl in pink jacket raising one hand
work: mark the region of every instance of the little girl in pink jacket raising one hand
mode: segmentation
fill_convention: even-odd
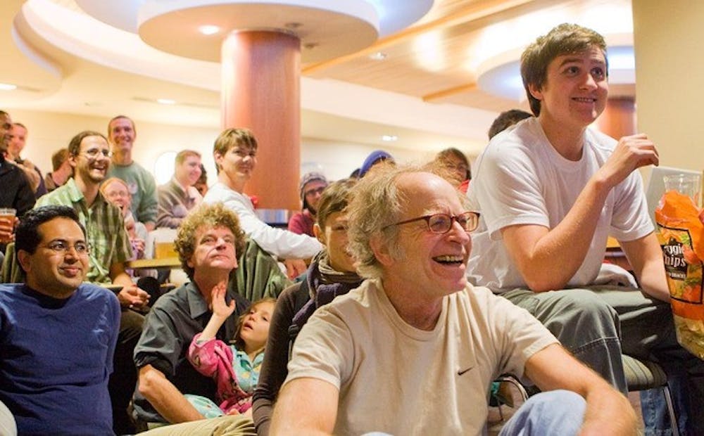
[[[274,311],[273,298],[253,302],[249,311],[239,316],[234,343],[227,345],[215,338],[220,327],[234,312],[234,301],[225,303],[225,283],[213,288],[213,315],[191,340],[188,361],[203,376],[218,384],[218,401],[198,395],[186,395],[201,415],[215,418],[222,415],[252,414],[252,394],[259,380],[264,347],[269,337],[269,321]]]

